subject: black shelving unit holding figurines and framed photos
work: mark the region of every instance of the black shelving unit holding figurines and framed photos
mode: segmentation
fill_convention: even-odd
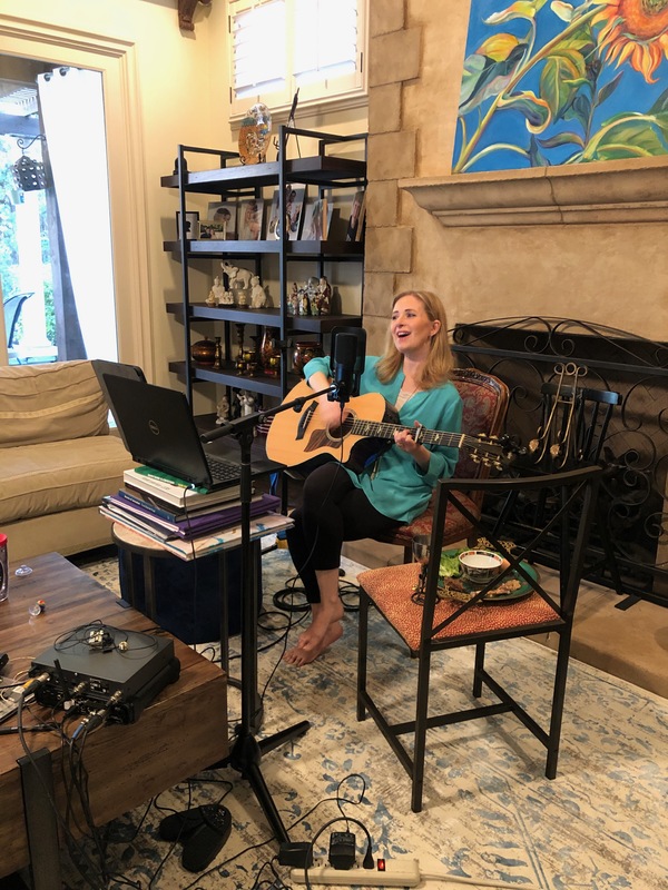
[[[291,138],[299,137],[316,140],[317,151],[310,157],[288,158],[287,145]],[[345,149],[351,148],[346,157]],[[356,148],[356,150],[355,150]],[[336,152],[336,154],[334,154]],[[207,155],[216,159],[216,167],[204,171],[189,171],[190,155]],[[315,186],[322,197],[325,189],[353,189],[366,187],[366,134],[338,136],[302,130],[282,126],[278,134],[278,159],[264,164],[243,166],[239,156],[230,151],[179,145],[175,162],[175,171],[160,179],[165,188],[178,191],[180,218],[185,219],[188,210],[189,194],[207,194],[226,200],[233,197],[265,197],[264,189],[278,188],[279,219],[285,219],[286,186]],[[178,240],[164,241],[164,250],[171,254],[181,267],[183,298],[178,303],[168,303],[167,312],[184,326],[184,358],[169,363],[169,369],[177,374],[186,387],[188,400],[193,398],[193,386],[199,380],[219,384],[226,387],[244,388],[258,394],[273,396],[281,400],[296,377],[288,370],[291,340],[301,334],[326,336],[337,326],[361,326],[363,313],[363,241],[345,240],[289,240],[285,226],[283,235],[276,240],[258,241],[217,241],[193,240],[186,238],[185,226],[181,226]],[[252,309],[239,306],[209,306],[194,303],[190,299],[189,271],[194,261],[203,259],[229,259],[230,261],[249,260],[255,273],[262,276],[263,264],[268,257],[278,260],[278,306],[265,309]],[[325,266],[338,263],[360,265],[360,312],[355,315],[326,316],[291,316],[287,314],[288,267],[296,263],[315,263],[320,276],[325,274]],[[263,277],[264,280],[264,277]],[[224,324],[224,357],[222,367],[213,368],[202,365],[190,357],[190,326],[196,319]],[[232,356],[230,325],[249,324],[259,332],[263,327],[272,327],[278,332],[281,344],[281,372],[278,377],[238,376],[235,374]]]

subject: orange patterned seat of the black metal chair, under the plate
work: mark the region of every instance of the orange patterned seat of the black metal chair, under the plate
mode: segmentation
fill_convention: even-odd
[[[422,606],[411,600],[418,578],[418,563],[393,565],[387,568],[370,568],[357,575],[357,581],[374,602],[386,621],[400,634],[412,653],[420,649]],[[433,626],[461,609],[461,603],[440,600],[434,610]],[[548,623],[560,623],[559,614],[549,603],[532,593],[523,600],[499,605],[474,605],[443,627],[435,640],[450,640],[471,634],[493,634],[512,627],[528,627]]]

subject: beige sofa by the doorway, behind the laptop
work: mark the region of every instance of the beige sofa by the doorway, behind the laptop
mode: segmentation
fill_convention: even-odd
[[[0,367],[0,532],[10,560],[108,544],[99,515],[135,466],[90,362]]]

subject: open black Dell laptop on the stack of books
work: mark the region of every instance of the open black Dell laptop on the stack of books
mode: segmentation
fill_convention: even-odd
[[[115,373],[102,376],[118,428],[138,464],[209,492],[240,483],[240,464],[205,453],[183,393]]]

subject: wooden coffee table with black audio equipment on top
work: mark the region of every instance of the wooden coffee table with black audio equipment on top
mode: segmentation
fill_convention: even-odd
[[[9,600],[0,603],[0,640],[10,656],[12,675],[30,668],[31,660],[52,646],[59,634],[97,619],[114,627],[165,634],[139,612],[122,607],[117,596],[59,554],[37,556],[29,564],[33,571],[26,577],[17,577],[17,564],[10,564]],[[46,610],[33,617],[28,607],[38,600],[46,601]],[[180,661],[177,682],[166,686],[136,723],[104,726],[86,741],[84,763],[97,825],[227,756],[226,676],[180,641],[175,640],[174,645]],[[48,713],[45,709],[45,716]],[[28,715],[24,722],[30,725]],[[3,725],[12,725],[12,721]],[[55,733],[27,733],[26,739],[31,751],[51,752],[56,804],[63,813],[60,739]],[[17,762],[24,755],[17,734],[0,735],[0,877],[30,863]],[[43,852],[41,848],[40,859]],[[33,887],[39,890],[35,872],[42,868],[36,859],[32,857]],[[49,863],[51,869],[55,866]]]

